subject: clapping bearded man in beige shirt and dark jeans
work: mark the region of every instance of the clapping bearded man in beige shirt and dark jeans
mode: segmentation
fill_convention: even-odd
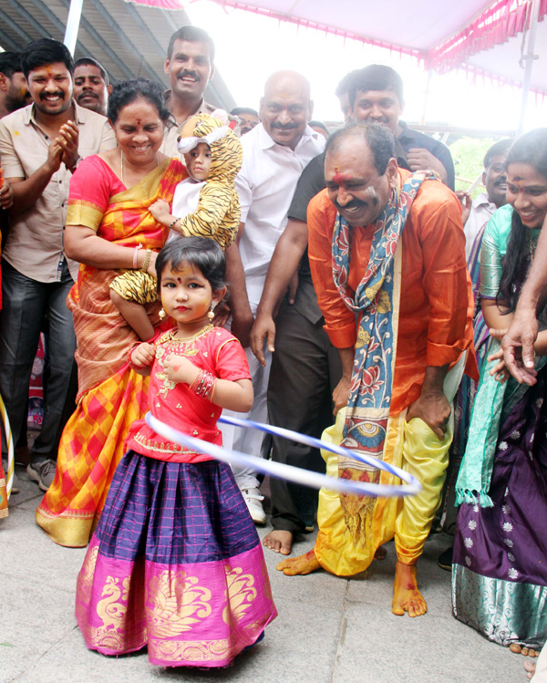
[[[116,140],[107,119],[72,98],[74,64],[67,47],[42,38],[26,47],[21,60],[33,104],[0,121],[2,168],[13,191],[2,258],[0,394],[16,443],[26,429],[28,381],[47,316],[44,421],[27,468],[46,491],[55,474],[63,420],[68,407],[74,409],[71,384],[76,388],[71,383],[76,339],[65,303],[78,269],[63,246],[68,183],[80,154],[112,149]]]

